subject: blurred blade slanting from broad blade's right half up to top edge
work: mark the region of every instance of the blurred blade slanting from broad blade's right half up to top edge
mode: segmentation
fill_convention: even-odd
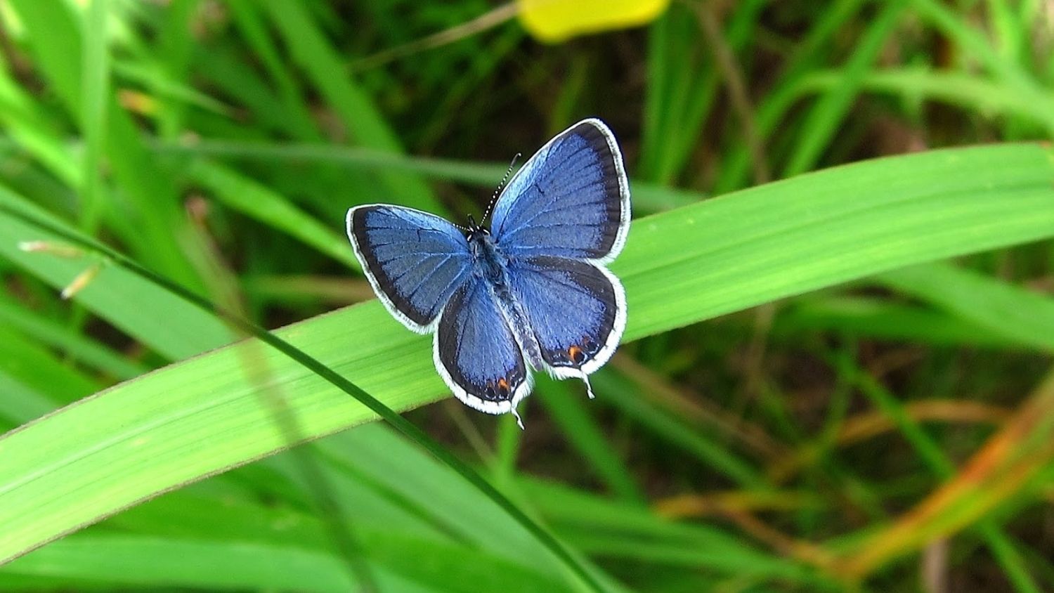
[[[802,124],[804,134],[790,151],[790,161],[783,169],[783,177],[793,177],[816,166],[848,112],[853,99],[859,93],[861,79],[878,58],[886,38],[900,22],[907,4],[907,0],[895,0],[883,4],[881,12],[867,26],[867,31],[846,62],[839,84],[825,93],[805,117],[805,122]]]

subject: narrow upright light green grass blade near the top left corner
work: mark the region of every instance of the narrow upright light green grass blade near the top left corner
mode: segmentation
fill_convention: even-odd
[[[84,15],[81,57],[81,120],[84,153],[81,158],[80,225],[94,235],[99,223],[101,199],[102,151],[106,138],[106,112],[110,96],[110,56],[108,47],[109,0],[91,0]]]

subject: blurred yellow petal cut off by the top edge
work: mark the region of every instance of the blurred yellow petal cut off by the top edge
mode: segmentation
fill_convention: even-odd
[[[520,21],[547,43],[575,35],[626,28],[650,22],[669,0],[519,0]]]

